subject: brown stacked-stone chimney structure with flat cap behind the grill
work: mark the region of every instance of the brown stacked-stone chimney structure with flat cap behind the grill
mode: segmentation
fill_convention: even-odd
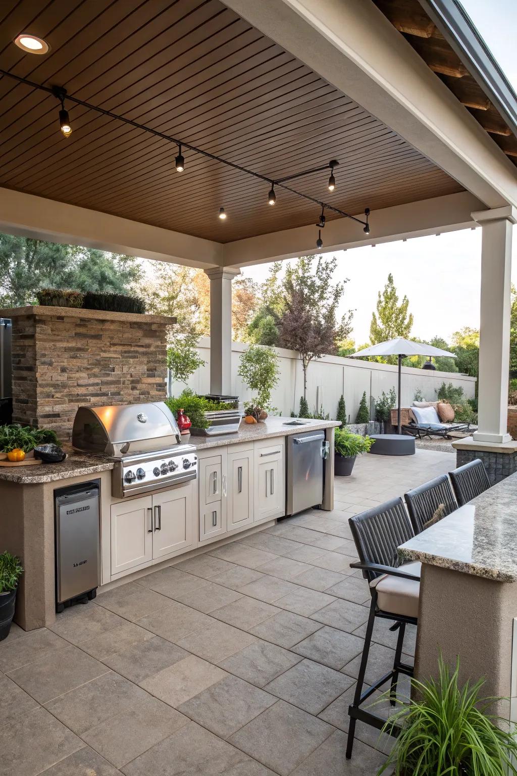
[[[175,318],[69,307],[0,310],[12,319],[12,420],[71,438],[83,404],[166,396],[167,326]]]

